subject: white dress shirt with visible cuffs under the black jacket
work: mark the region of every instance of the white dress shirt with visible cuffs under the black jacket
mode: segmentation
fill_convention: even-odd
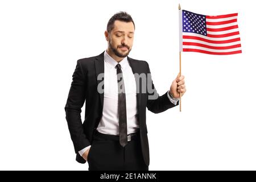
[[[118,64],[109,54],[104,52],[104,105],[102,117],[98,124],[97,130],[100,133],[109,135],[119,135],[119,119],[118,119],[118,83],[117,69]],[[136,99],[136,81],[133,71],[127,60],[127,56],[119,61],[123,73],[123,81],[125,85],[126,96],[126,117],[127,117],[127,134],[135,133],[139,128],[137,115],[137,99]],[[179,99],[171,98],[167,94],[172,104],[176,105]],[[89,148],[85,147],[79,151],[82,156]]]

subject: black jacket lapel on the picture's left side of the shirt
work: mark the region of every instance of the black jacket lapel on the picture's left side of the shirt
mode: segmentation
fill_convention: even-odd
[[[105,52],[105,51],[104,51]],[[96,72],[96,79],[98,78],[98,75],[100,73],[104,74],[104,52],[102,52],[100,55],[96,57],[96,60],[94,61],[95,64],[95,72]],[[104,81],[104,77],[102,80],[97,79],[97,85],[100,84],[100,82]],[[100,94],[100,100],[101,100],[101,108],[103,109],[103,104],[104,104],[104,85],[102,86],[103,88],[103,93]]]

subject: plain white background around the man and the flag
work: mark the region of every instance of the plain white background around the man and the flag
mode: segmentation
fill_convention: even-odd
[[[147,111],[149,169],[255,170],[255,10],[231,0],[1,1],[0,169],[87,170],[64,111],[76,61],[103,52],[109,18],[127,11],[136,26],[129,56],[148,61],[164,94],[179,72],[179,2],[199,14],[238,13],[243,53],[182,54],[182,112]]]

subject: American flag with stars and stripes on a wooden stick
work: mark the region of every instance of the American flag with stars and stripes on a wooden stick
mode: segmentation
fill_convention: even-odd
[[[242,53],[237,15],[207,16],[182,10],[182,51],[211,55]]]

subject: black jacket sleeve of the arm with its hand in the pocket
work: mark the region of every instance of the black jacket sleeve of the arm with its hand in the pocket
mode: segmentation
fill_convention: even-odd
[[[75,152],[90,145],[84,134],[81,121],[81,107],[84,105],[86,96],[86,77],[82,70],[80,60],[77,61],[75,72],[73,73],[71,88],[69,90],[67,104],[65,105],[68,129],[71,135]]]

